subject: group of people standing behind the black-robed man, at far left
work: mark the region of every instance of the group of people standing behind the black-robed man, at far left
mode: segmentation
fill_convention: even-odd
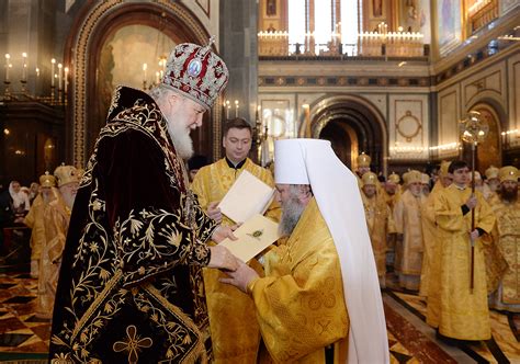
[[[0,242],[2,255],[9,247],[25,243],[31,229],[31,276],[38,280],[36,317],[50,319],[61,255],[82,170],[61,164],[39,177],[31,187],[11,181],[0,194]]]

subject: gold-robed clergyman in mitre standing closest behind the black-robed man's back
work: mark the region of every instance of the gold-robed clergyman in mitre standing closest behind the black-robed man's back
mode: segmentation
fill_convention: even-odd
[[[44,208],[45,243],[42,247],[36,306],[36,316],[48,319],[53,317],[61,254],[79,186],[78,172],[72,166],[59,166],[54,175],[59,191],[53,191],[55,198]]]

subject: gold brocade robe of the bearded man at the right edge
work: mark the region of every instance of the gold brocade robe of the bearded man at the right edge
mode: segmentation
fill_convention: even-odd
[[[520,200],[507,203],[497,198],[494,202],[493,212],[497,224],[493,230],[493,238],[507,262],[500,282],[500,295],[494,306],[518,312],[520,311]]]

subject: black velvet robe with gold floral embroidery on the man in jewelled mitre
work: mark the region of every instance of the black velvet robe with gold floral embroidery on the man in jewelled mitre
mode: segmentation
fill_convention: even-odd
[[[157,104],[118,88],[72,209],[50,361],[208,359],[201,266],[214,229]]]

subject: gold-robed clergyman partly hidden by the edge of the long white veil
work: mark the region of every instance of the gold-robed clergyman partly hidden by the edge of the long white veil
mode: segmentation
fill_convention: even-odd
[[[386,232],[388,231],[391,211],[384,196],[377,192],[377,177],[374,172],[364,173],[361,182],[363,183],[361,198],[363,201],[366,225],[369,226],[370,241],[374,251],[380,285],[384,287],[386,274]]]

